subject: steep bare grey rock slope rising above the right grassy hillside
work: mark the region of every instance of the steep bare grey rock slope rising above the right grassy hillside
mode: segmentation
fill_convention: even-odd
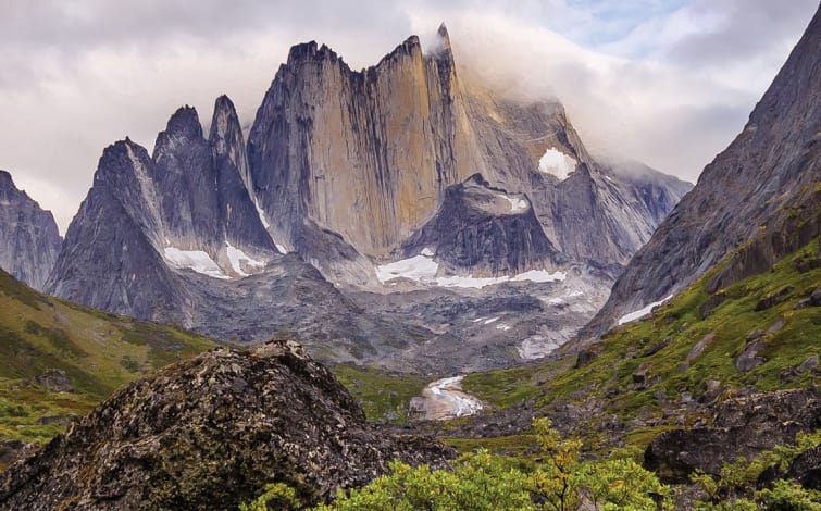
[[[621,275],[587,329],[675,292],[730,257],[714,292],[821,230],[821,11],[749,116]]]

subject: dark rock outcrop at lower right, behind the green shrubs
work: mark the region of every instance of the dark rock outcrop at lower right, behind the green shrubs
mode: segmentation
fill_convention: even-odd
[[[821,427],[816,390],[781,390],[716,404],[711,427],[673,429],[652,440],[644,465],[671,483],[686,483],[696,469],[718,475],[725,462],[791,444],[799,432]]]

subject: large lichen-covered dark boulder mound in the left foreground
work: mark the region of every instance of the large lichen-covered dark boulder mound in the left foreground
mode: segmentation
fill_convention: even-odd
[[[0,474],[2,509],[236,509],[282,482],[306,502],[401,459],[451,454],[365,422],[293,341],[220,348],[134,382]]]

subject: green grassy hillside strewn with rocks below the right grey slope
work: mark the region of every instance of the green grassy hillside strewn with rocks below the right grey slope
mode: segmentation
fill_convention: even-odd
[[[821,267],[812,267],[818,253],[816,239],[770,272],[709,295],[705,284],[717,266],[651,315],[609,332],[587,350],[586,364],[576,366],[568,354],[471,374],[463,388],[497,409],[527,399],[553,410],[594,403],[600,407],[595,419],[575,425],[588,445],[611,440],[600,420],[615,415],[629,424],[624,441],[644,448],[682,419],[685,425],[709,419],[687,415],[689,400],[818,385],[812,357],[821,354],[821,307],[807,303],[821,286]],[[737,369],[738,357],[756,349],[758,365]]]

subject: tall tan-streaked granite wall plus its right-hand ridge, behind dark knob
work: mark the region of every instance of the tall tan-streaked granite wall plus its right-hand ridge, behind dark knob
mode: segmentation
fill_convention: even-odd
[[[411,37],[361,72],[327,47],[294,47],[257,112],[248,153],[275,237],[318,260],[326,257],[298,239],[306,219],[384,260],[426,224],[449,186],[480,173],[527,195],[568,258],[619,265],[663,217],[647,213],[665,213],[688,189],[647,169],[638,178],[620,169],[614,179],[561,104],[462,83],[444,26],[427,53]],[[656,194],[646,192],[648,175]]]

